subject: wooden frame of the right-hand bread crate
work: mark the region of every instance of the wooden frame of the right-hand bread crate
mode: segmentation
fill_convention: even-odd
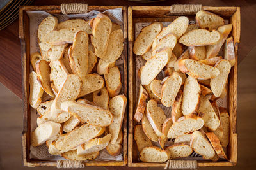
[[[184,5],[185,11],[177,10],[177,6],[132,6],[128,8],[128,40],[129,40],[129,134],[128,134],[128,166],[130,167],[160,167],[166,163],[147,163],[138,160],[137,146],[133,139],[133,127],[136,122],[133,120],[136,110],[136,70],[135,57],[132,47],[135,40],[134,25],[138,22],[172,21],[175,18],[185,15],[194,18],[195,11],[188,12],[188,9],[201,8],[211,11],[228,19],[233,25],[230,33],[234,38],[236,64],[232,67],[228,77],[228,102],[227,108],[230,114],[230,143],[227,147],[227,161],[211,162],[197,161],[197,166],[235,166],[237,162],[237,130],[236,130],[236,111],[237,111],[237,50],[240,42],[240,8],[239,7],[212,7],[198,5]],[[175,11],[176,9],[176,11]]]

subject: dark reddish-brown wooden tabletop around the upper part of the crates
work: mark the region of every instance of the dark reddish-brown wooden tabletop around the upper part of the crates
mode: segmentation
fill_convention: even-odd
[[[127,0],[35,0],[33,5],[60,5],[61,3],[88,3],[89,5],[106,6],[171,6],[172,4],[202,4],[204,6],[241,6],[241,43],[239,45],[238,60],[256,46],[256,2],[253,0],[180,0],[162,1],[157,3],[135,3]],[[11,25],[0,31],[0,82],[22,98],[21,57],[19,40],[19,22],[15,20]]]

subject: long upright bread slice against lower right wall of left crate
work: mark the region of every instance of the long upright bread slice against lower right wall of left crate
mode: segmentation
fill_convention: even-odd
[[[113,97],[109,101],[109,108],[113,114],[113,122],[109,125],[109,133],[112,134],[111,144],[115,144],[121,130],[127,99],[124,95]]]

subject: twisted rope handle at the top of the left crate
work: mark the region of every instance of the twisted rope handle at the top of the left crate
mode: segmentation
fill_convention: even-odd
[[[83,3],[61,4],[60,9],[63,14],[87,13],[88,4],[83,4]]]

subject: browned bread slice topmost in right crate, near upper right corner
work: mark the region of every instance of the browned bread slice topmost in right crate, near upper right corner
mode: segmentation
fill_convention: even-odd
[[[213,29],[218,29],[218,27],[224,25],[224,19],[209,11],[201,10],[196,13],[196,24],[200,28],[212,31]]]

